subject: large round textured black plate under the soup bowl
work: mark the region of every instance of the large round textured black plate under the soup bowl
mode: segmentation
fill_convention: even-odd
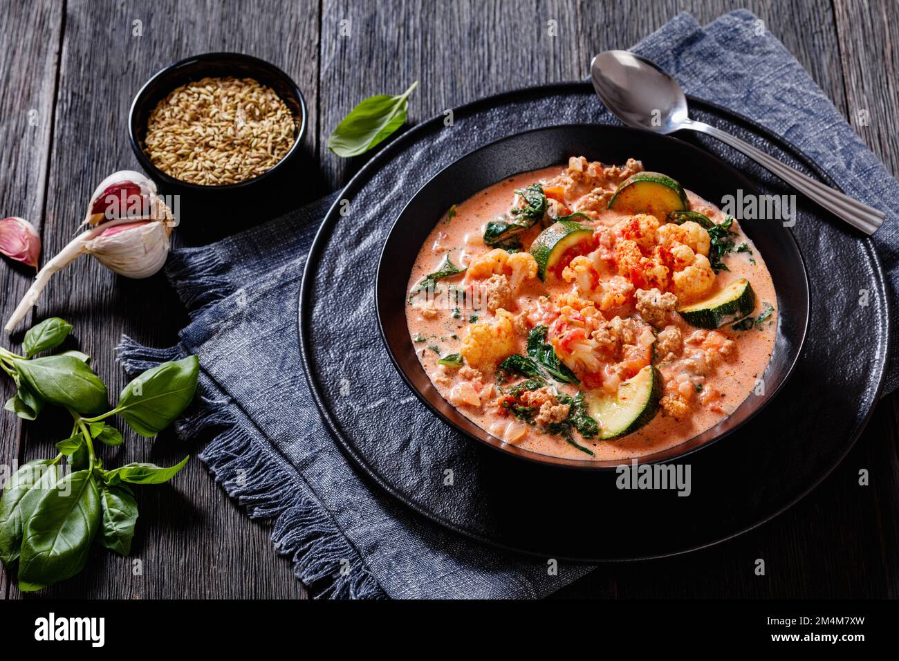
[[[696,99],[690,116],[826,181],[782,138],[750,121]],[[434,174],[495,139],[554,123],[614,122],[588,84],[500,94],[455,109],[453,117],[451,127],[441,114],[407,131],[353,177],[316,235],[300,290],[300,350],[316,405],[374,483],[472,539],[596,562],[729,539],[779,514],[830,473],[877,402],[891,313],[871,241],[801,197],[792,231],[811,294],[802,354],[760,415],[725,442],[673,462],[690,466],[689,497],[620,490],[614,472],[511,460],[471,442],[411,395],[383,350],[375,314],[374,276],[391,220]],[[761,192],[792,193],[715,140],[684,139],[723,157]],[[433,219],[423,222],[431,227]]]

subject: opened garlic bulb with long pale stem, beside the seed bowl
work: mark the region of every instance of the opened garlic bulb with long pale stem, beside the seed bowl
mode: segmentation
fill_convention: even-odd
[[[44,264],[6,322],[6,331],[18,326],[28,308],[37,305],[50,276],[81,255],[93,255],[107,268],[129,278],[153,275],[165,264],[174,225],[172,211],[156,195],[156,184],[146,176],[121,170],[106,177],[87,205],[82,226],[88,229]]]

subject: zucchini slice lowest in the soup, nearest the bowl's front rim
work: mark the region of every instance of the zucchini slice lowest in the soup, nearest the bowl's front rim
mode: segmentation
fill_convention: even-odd
[[[617,395],[601,390],[588,392],[587,412],[600,423],[600,439],[627,436],[652,420],[659,410],[663,389],[662,372],[654,365],[646,365],[619,386]]]

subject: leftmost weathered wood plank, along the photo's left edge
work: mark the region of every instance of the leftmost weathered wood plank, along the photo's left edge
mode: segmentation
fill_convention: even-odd
[[[20,216],[41,225],[46,200],[47,168],[52,143],[54,94],[62,31],[61,2],[40,0],[4,7],[0,48],[0,218]],[[34,273],[4,259],[0,265],[0,309],[12,309],[28,289]],[[2,339],[9,346],[8,338]],[[0,397],[13,395],[13,385],[2,375]],[[19,419],[0,415],[0,464],[16,460],[21,431]],[[7,593],[6,575],[0,574],[0,599]]]

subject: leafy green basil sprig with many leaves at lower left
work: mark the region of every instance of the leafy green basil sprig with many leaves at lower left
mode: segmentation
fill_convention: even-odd
[[[57,457],[22,466],[0,497],[0,560],[17,572],[19,588],[26,592],[75,576],[85,567],[94,540],[128,555],[138,505],[125,483],[162,484],[190,459],[170,468],[130,463],[104,469],[96,448],[122,443],[121,433],[105,422],[112,415],[142,436],[172,424],[196,392],[196,356],[140,374],[122,390],[117,406],[98,415],[107,407],[107,390],[88,366],[89,356],[67,351],[32,357],[57,348],[71,331],[70,324],[54,317],[25,335],[25,355],[0,348],[0,369],[18,387],[6,410],[33,420],[49,404],[64,408],[73,420],[72,433],[57,443]]]

